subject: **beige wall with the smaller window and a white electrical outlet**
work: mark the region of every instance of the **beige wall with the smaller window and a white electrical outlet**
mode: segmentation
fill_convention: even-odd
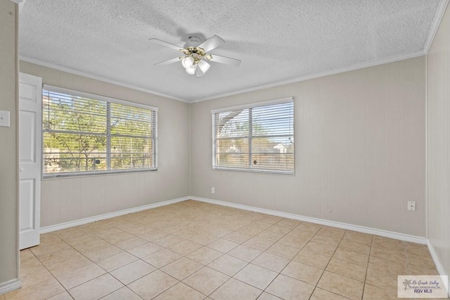
[[[288,96],[295,176],[212,170],[212,109]],[[425,57],[193,104],[191,194],[425,237]]]

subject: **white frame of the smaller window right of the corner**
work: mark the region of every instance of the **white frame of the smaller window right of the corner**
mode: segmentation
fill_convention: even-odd
[[[293,169],[292,170],[276,170],[276,169],[255,169],[251,168],[251,156],[252,156],[252,135],[249,136],[249,165],[246,168],[240,168],[240,167],[229,167],[229,166],[218,166],[216,164],[216,136],[215,136],[215,130],[216,130],[216,124],[215,124],[215,118],[214,115],[216,113],[223,113],[226,111],[236,111],[240,109],[248,109],[248,108],[257,108],[261,106],[270,106],[274,104],[285,104],[285,103],[292,103],[293,104]],[[240,106],[231,106],[226,108],[217,108],[211,110],[212,115],[212,169],[213,170],[231,170],[231,171],[239,171],[239,172],[245,172],[245,173],[266,173],[266,174],[278,174],[278,175],[295,175],[295,101],[293,97],[287,97],[282,99],[275,99],[275,100],[269,100],[269,101],[262,101],[262,102],[255,102],[252,104],[245,104]],[[251,117],[249,116],[249,121],[251,120]]]

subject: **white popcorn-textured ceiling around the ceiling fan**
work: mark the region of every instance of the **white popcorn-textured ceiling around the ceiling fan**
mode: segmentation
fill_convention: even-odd
[[[27,0],[20,58],[195,102],[426,54],[446,0]],[[219,35],[205,77],[154,66],[187,37]]]

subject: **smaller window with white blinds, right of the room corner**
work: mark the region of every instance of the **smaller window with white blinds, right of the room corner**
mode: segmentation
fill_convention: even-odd
[[[213,168],[294,173],[292,98],[212,111]]]

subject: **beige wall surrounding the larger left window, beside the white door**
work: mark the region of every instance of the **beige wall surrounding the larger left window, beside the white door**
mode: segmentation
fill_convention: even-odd
[[[44,84],[158,107],[158,171],[42,180],[41,227],[188,196],[188,104],[23,61],[20,72]]]

